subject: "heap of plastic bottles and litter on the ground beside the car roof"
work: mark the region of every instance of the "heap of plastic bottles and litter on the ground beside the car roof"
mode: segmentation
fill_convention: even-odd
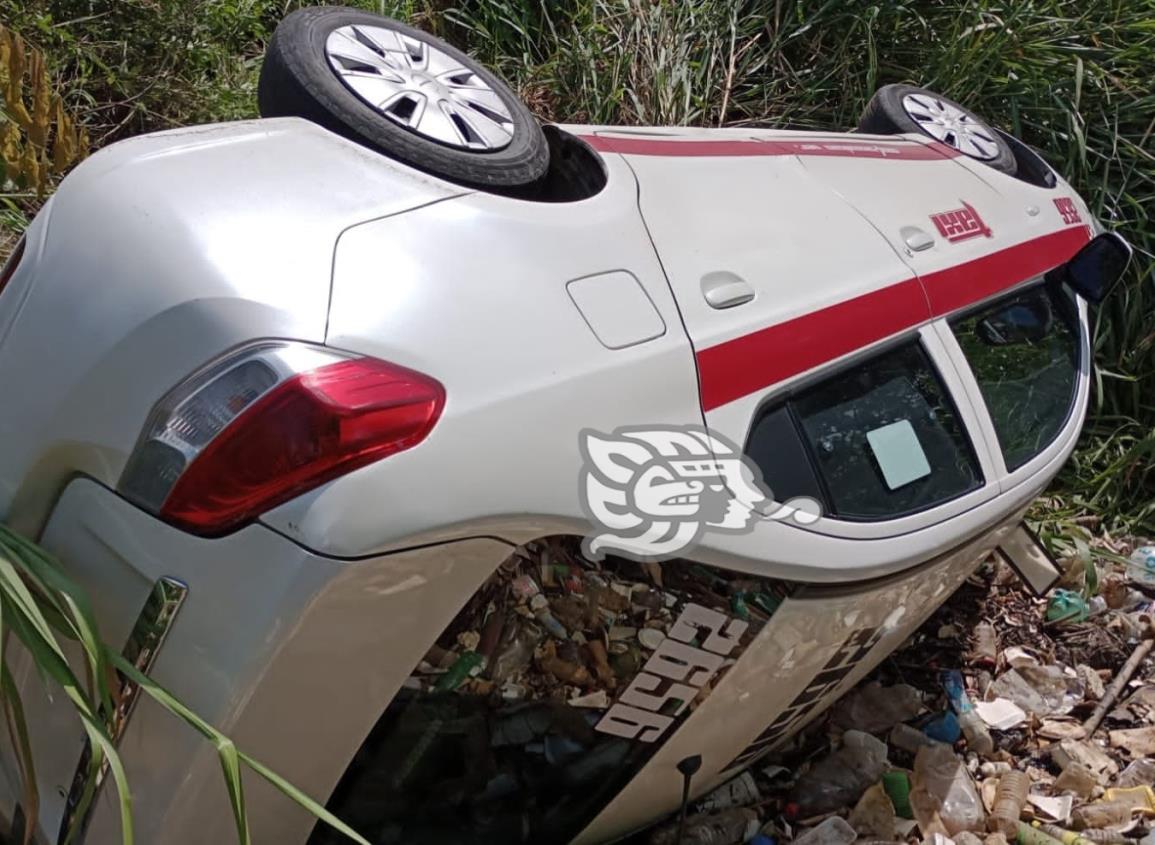
[[[680,838],[640,842],[1155,845],[1155,547],[1109,558],[1045,599],[992,558]]]

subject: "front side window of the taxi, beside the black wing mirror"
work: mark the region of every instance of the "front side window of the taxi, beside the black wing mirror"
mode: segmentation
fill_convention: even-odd
[[[1045,449],[1063,429],[1079,381],[1074,308],[1040,285],[951,323],[994,424],[1008,470]]]

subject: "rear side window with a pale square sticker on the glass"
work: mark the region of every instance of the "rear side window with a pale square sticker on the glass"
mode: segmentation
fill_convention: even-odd
[[[751,428],[746,454],[775,499],[815,496],[843,519],[907,516],[983,484],[946,388],[917,342],[770,407]]]

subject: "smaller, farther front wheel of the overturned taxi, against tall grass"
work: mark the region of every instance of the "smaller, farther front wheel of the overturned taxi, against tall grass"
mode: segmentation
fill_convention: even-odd
[[[985,165],[1014,175],[1011,145],[974,112],[954,100],[914,85],[884,85],[878,89],[858,130],[873,135],[917,132],[953,147]]]

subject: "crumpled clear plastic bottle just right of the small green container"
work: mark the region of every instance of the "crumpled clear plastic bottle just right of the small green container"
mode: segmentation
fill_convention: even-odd
[[[954,836],[985,827],[983,802],[966,764],[949,746],[918,749],[910,803],[924,838],[936,832]]]

